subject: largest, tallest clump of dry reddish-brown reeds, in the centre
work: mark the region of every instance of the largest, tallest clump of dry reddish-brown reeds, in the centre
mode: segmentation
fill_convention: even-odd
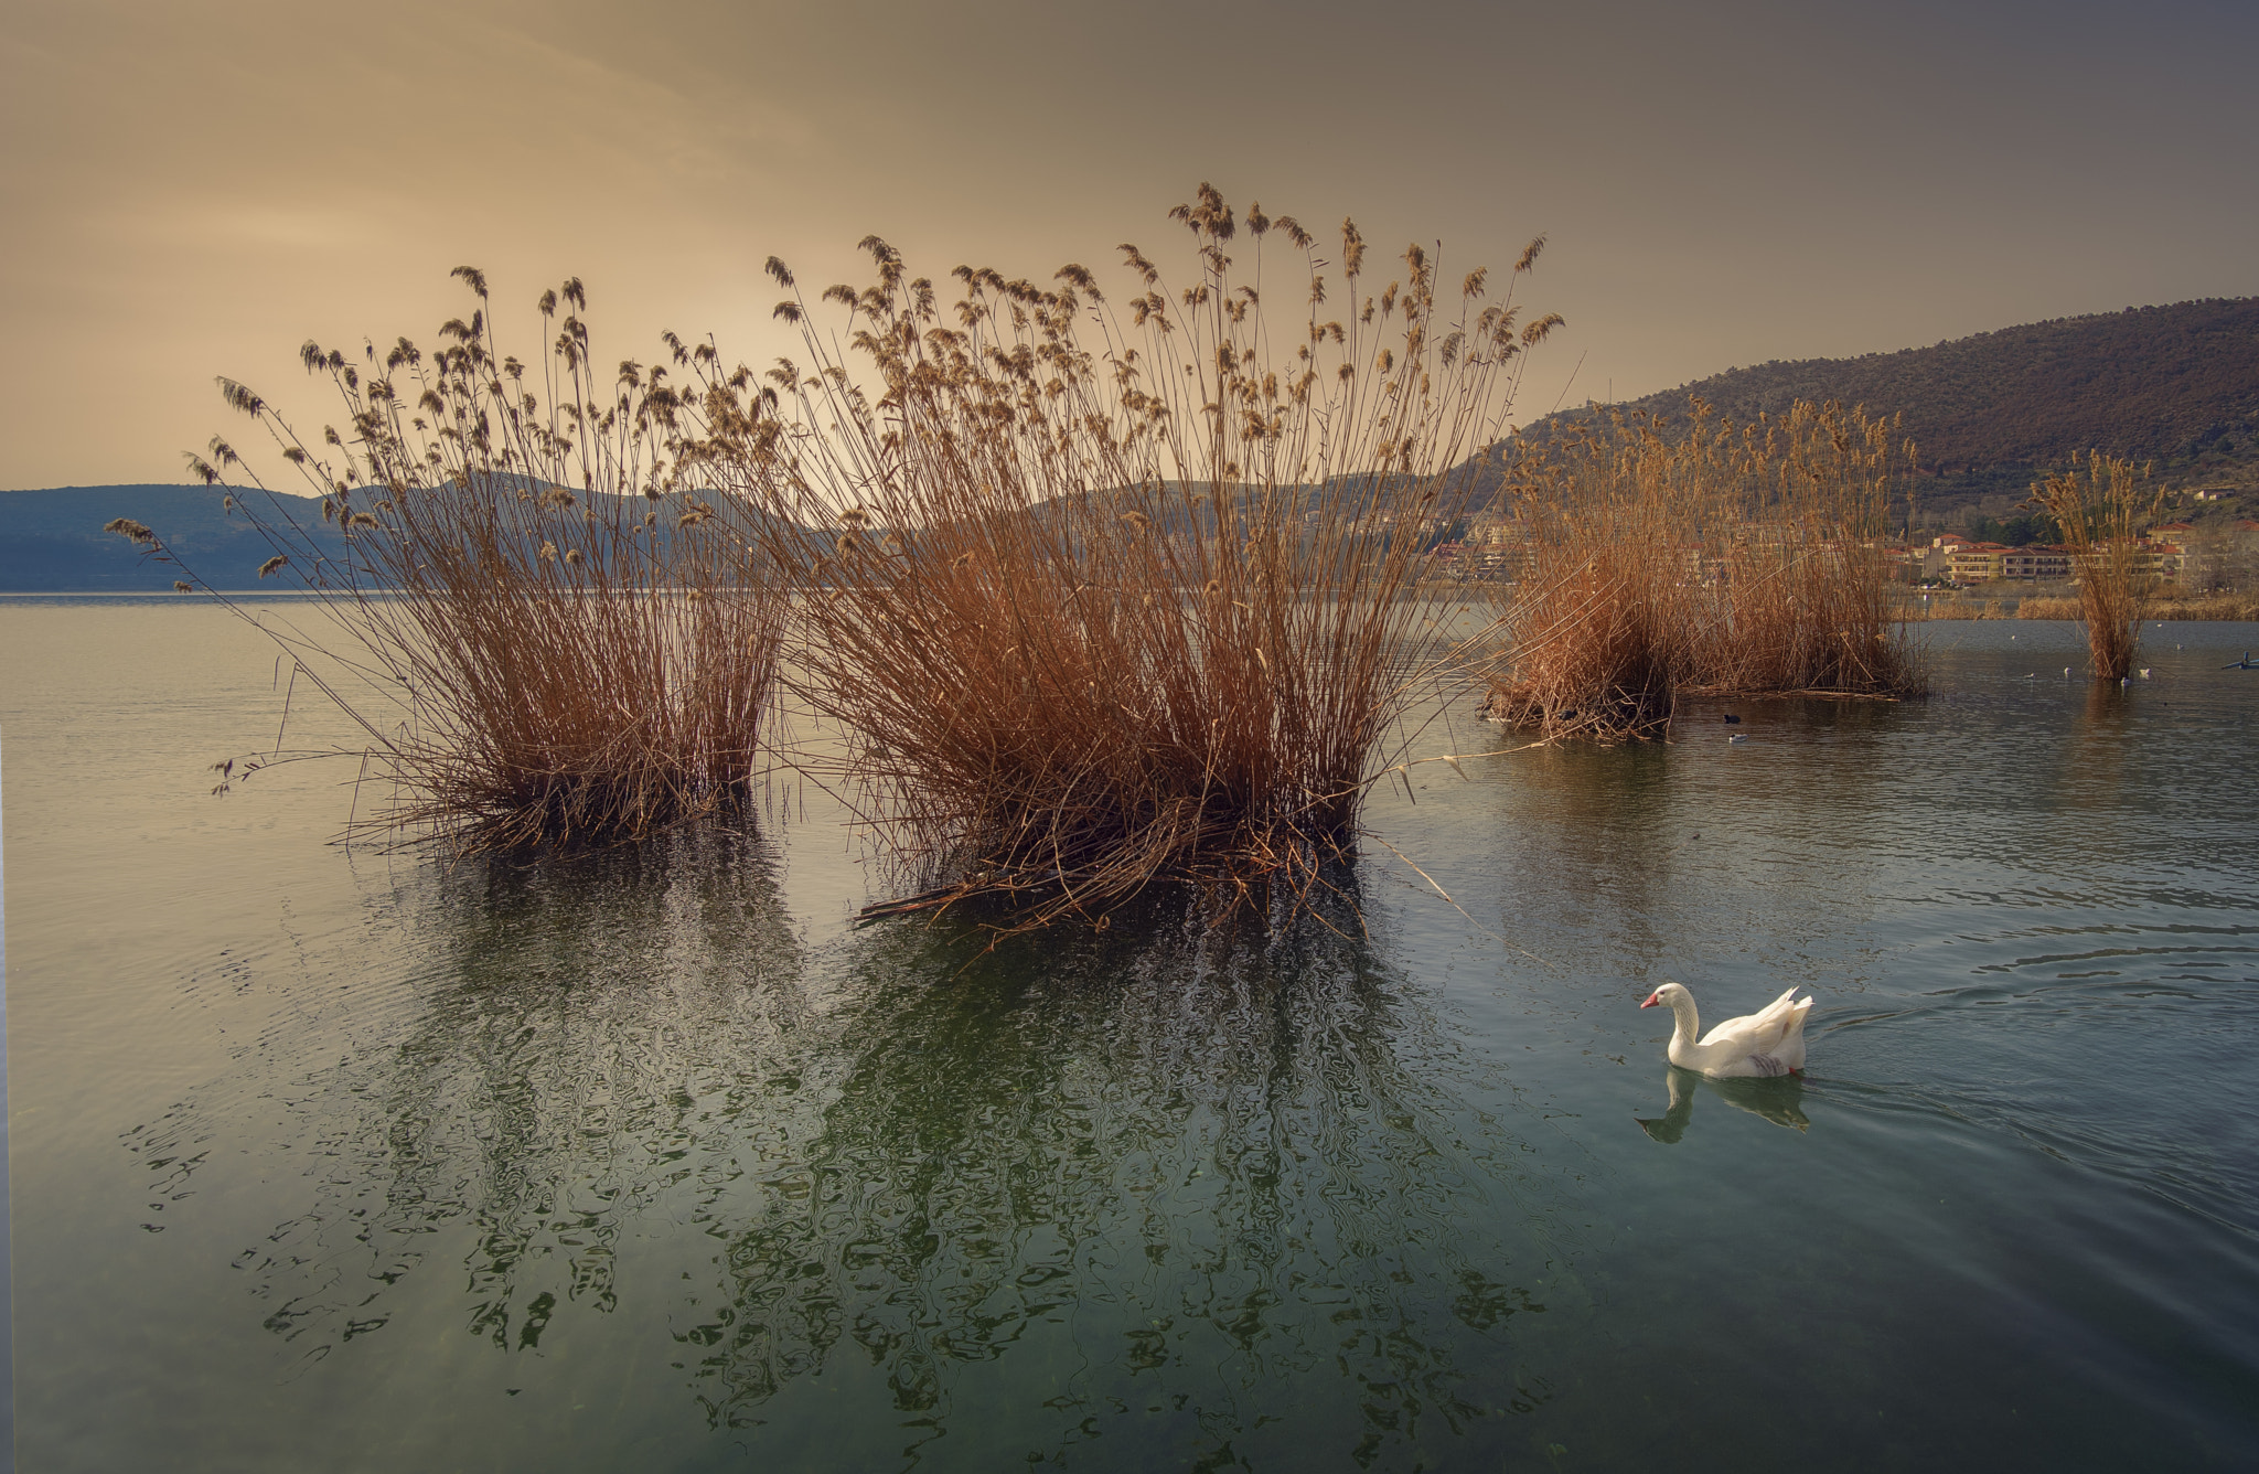
[[[944,303],[876,237],[818,301],[770,262],[806,362],[712,463],[797,590],[827,780],[917,891],[881,911],[1107,925],[1161,879],[1301,907],[1410,739],[1457,595],[1428,529],[1559,323],[1511,301],[1538,244],[1491,301],[1416,244],[1376,289],[1351,222],[1326,262],[1209,185],[1172,219],[1181,278],[1120,246],[1120,296],[958,267]]]

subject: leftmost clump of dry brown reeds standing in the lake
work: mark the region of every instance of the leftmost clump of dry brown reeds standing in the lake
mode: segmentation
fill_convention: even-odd
[[[221,380],[305,495],[221,439],[190,457],[273,547],[260,576],[325,615],[260,626],[366,737],[380,798],[350,832],[605,843],[741,803],[784,592],[748,576],[730,500],[678,461],[696,411],[664,364],[596,364],[578,280],[540,296],[553,341],[526,364],[495,341],[486,278],[456,276],[477,307],[429,353],[300,350],[343,430],[300,436]]]

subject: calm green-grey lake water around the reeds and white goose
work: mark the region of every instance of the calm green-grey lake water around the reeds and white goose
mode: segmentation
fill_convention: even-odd
[[[346,852],[350,764],[208,794],[255,631],[5,601],[20,1467],[2248,1469],[2250,631],[1929,626],[1922,703],[1416,769],[1457,907],[983,956],[797,789]],[[1665,977],[1807,986],[1809,1078],[1674,1074]]]

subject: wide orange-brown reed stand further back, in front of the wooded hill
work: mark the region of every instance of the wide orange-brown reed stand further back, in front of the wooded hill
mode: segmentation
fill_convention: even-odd
[[[1882,552],[1911,448],[1857,409],[1687,425],[1595,416],[1518,448],[1527,540],[1491,714],[1547,737],[1660,735],[1685,692],[1907,696],[1922,676]]]

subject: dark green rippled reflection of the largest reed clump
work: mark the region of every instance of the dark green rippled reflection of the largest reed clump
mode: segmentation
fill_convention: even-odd
[[[1464,1361],[1545,1309],[1559,1189],[1453,1094],[1464,1060],[1364,943],[1163,904],[962,963],[913,927],[849,959],[822,1133],[716,1225],[727,1304],[687,1336],[716,1422],[849,1345],[910,1442],[951,1431],[978,1363],[1075,1368],[1014,1404],[1021,1451],[1100,1427],[1213,1451],[1328,1365],[1355,1408],[1335,1454],[1520,1395]]]

